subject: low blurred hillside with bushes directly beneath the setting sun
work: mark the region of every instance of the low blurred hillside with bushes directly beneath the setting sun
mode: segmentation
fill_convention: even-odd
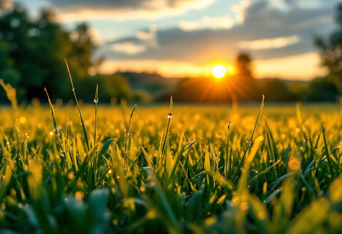
[[[156,73],[120,73],[128,80],[135,96],[153,101],[167,101],[174,96],[179,102],[229,103],[259,100],[264,94],[268,101],[336,101],[339,94],[325,77],[310,81],[279,78],[252,79],[231,76],[216,82],[212,77],[165,78]],[[247,79],[248,78],[248,79]],[[199,85],[201,84],[201,85]]]

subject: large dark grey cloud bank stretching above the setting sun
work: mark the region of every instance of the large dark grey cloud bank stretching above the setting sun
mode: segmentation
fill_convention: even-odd
[[[98,51],[107,58],[123,60],[174,60],[206,64],[210,58],[232,61],[240,41],[298,35],[300,40],[282,48],[250,50],[254,59],[270,59],[316,51],[314,37],[329,35],[333,30],[334,7],[323,9],[292,8],[287,11],[270,7],[268,1],[257,1],[245,11],[243,24],[230,29],[183,31],[168,29],[157,31],[157,46],[146,44],[146,50],[136,54],[124,54],[103,47]],[[135,37],[122,38],[108,44],[131,42],[143,44]]]

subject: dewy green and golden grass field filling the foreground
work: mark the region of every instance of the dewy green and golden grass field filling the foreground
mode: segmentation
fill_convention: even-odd
[[[5,89],[3,233],[342,232],[337,104],[79,112]]]

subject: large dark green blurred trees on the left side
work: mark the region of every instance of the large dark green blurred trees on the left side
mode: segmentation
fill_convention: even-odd
[[[45,99],[46,87],[52,98],[63,98],[70,89],[64,58],[75,80],[89,76],[89,69],[98,65],[91,58],[95,44],[87,24],[66,31],[51,11],[32,20],[21,5],[3,3],[0,0],[0,75],[19,97]]]

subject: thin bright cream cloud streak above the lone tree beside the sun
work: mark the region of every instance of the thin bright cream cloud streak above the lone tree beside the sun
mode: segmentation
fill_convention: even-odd
[[[267,38],[253,41],[240,41],[239,48],[247,50],[276,49],[295,44],[300,41],[298,35],[290,37]]]

